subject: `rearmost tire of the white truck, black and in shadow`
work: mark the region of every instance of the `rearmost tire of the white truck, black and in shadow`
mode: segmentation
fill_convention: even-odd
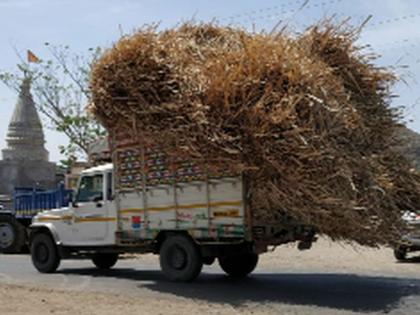
[[[254,253],[219,257],[219,265],[229,276],[244,278],[258,264],[258,255]]]

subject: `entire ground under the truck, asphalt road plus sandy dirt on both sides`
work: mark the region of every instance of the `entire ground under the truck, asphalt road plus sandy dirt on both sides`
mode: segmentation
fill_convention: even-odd
[[[278,248],[235,281],[215,264],[195,283],[165,281],[154,256],[100,272],[65,261],[38,274],[28,256],[0,256],[0,314],[413,314],[420,315],[420,258],[396,263],[389,249],[319,241]]]

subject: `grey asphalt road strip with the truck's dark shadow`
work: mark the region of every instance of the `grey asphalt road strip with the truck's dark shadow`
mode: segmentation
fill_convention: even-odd
[[[64,261],[56,274],[37,273],[26,255],[0,255],[0,283],[43,285],[65,290],[89,290],[192,298],[237,307],[264,304],[282,313],[285,305],[314,306],[322,310],[356,313],[420,315],[419,278],[340,273],[257,271],[245,280],[231,280],[218,267],[206,267],[195,283],[165,281],[158,266],[141,259],[118,262],[101,272],[89,261]],[[262,305],[261,304],[261,305]],[[344,314],[343,313],[343,314]]]

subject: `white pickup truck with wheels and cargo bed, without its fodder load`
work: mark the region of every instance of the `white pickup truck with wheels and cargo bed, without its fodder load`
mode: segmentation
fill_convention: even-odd
[[[83,171],[68,207],[34,217],[38,271],[52,273],[74,257],[108,269],[135,252],[158,254],[172,281],[192,281],[216,259],[228,275],[243,277],[270,246],[298,241],[305,249],[315,240],[313,227],[287,216],[255,221],[244,174],[209,170],[133,138],[110,138],[112,163]]]

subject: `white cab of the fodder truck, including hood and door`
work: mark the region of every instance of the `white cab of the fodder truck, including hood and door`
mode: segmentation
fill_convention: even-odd
[[[62,246],[114,245],[117,214],[112,169],[112,164],[105,164],[83,171],[70,205],[39,213],[32,231],[48,227]]]

